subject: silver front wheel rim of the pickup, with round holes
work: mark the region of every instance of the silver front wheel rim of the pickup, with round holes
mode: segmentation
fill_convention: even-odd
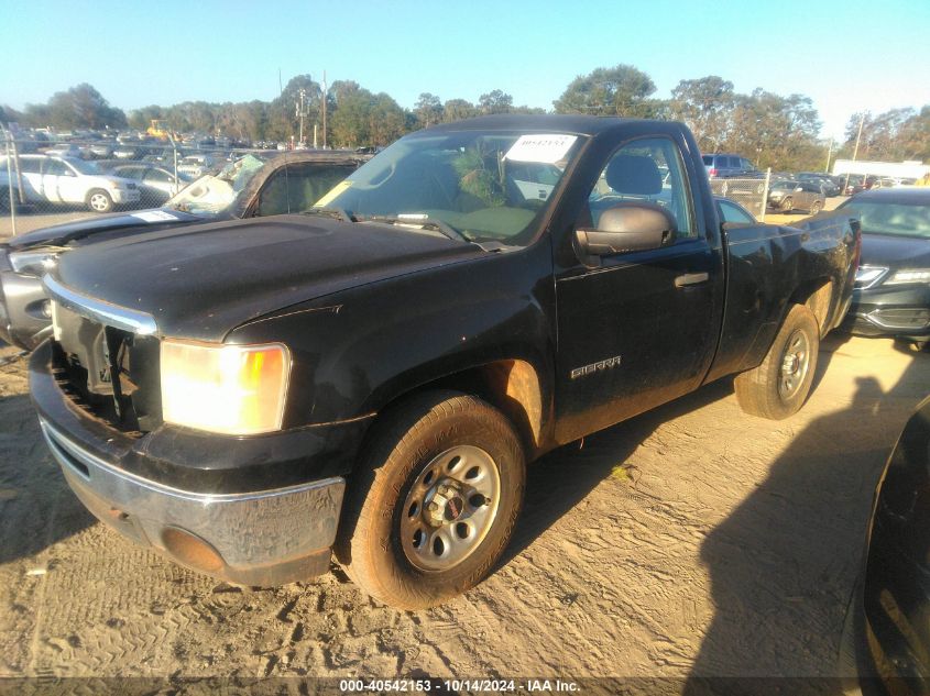
[[[458,445],[417,474],[401,510],[401,546],[427,572],[455,567],[484,541],[497,517],[501,475],[484,450]]]

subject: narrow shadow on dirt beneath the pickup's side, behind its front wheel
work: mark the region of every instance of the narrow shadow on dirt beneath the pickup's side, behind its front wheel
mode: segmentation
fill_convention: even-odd
[[[833,353],[847,334],[831,333],[821,345],[812,391],[827,373]],[[617,465],[663,423],[699,410],[733,394],[733,379],[723,378],[627,421],[546,454],[527,469],[524,509],[500,565],[518,555],[566,512],[588,496]]]

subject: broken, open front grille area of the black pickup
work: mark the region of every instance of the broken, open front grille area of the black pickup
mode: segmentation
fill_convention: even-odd
[[[53,302],[53,374],[78,408],[125,432],[161,424],[158,341]]]

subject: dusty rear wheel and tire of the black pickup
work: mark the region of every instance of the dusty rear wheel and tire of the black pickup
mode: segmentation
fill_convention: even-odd
[[[736,400],[753,416],[781,420],[803,406],[817,371],[820,328],[813,312],[795,305],[762,364],[736,376]]]

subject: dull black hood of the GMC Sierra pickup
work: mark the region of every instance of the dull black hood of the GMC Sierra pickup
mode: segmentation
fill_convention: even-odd
[[[222,341],[297,302],[486,253],[426,231],[277,216],[91,244],[63,255],[54,274],[79,294],[147,312],[160,335]]]

